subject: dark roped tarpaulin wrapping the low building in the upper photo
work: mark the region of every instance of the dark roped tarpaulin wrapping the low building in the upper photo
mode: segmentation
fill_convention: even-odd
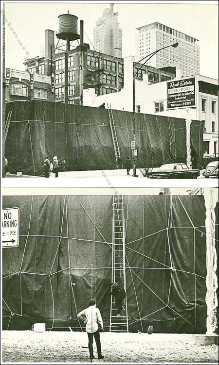
[[[46,156],[66,160],[67,171],[113,169],[116,157],[107,109],[29,100],[6,104],[12,111],[5,143],[11,173],[42,175]],[[113,110],[122,160],[131,156],[133,113]],[[185,119],[136,113],[137,167],[186,160]],[[202,156],[201,122],[192,121],[192,157]]]

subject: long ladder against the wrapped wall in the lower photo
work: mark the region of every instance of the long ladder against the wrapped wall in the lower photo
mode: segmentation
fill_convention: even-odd
[[[112,219],[112,282],[121,280],[126,291],[126,266],[125,266],[125,219],[123,209],[123,195],[113,196]],[[111,296],[110,304],[110,332],[128,332],[127,299],[124,299],[121,315],[117,316],[115,302]]]

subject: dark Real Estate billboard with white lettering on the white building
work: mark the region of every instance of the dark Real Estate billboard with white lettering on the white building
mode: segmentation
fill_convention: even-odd
[[[195,106],[195,77],[167,81],[167,110]]]

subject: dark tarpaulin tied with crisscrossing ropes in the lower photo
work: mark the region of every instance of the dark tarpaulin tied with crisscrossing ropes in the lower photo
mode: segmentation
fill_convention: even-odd
[[[3,329],[81,331],[92,296],[109,331],[113,197],[2,200],[20,212],[19,246],[3,249]],[[124,217],[129,332],[205,333],[203,196],[124,196]]]

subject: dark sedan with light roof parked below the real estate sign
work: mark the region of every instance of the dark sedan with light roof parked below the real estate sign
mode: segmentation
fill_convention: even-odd
[[[149,172],[151,179],[197,179],[200,170],[189,168],[185,164],[165,164],[157,171]]]

